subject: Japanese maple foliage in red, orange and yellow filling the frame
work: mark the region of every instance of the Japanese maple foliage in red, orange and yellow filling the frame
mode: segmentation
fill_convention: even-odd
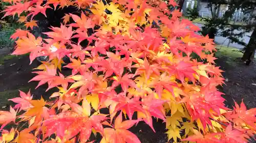
[[[5,16],[28,13],[19,19],[28,30],[11,36],[18,38],[13,54],[30,53],[31,63],[49,56],[31,81],[58,92],[49,101],[22,91],[10,99],[17,104],[0,111],[1,142],[94,142],[94,134],[101,143],[138,143],[128,129],[145,122],[155,131],[152,118],[166,123],[171,142],[246,142],[255,133],[256,109],[247,110],[243,102],[225,107],[216,88],[224,78],[214,63],[214,42],[196,34],[200,28],[180,19],[178,10],[170,11],[173,0],[4,2],[12,4]],[[36,14],[64,7],[80,13],[66,13],[46,39],[29,32],[37,26]],[[70,75],[61,74],[65,56]],[[19,126],[24,123],[28,127]]]

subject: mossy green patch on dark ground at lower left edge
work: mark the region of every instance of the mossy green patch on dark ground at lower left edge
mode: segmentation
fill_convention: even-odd
[[[23,91],[27,93],[29,91],[29,87],[21,87],[17,90],[7,90],[4,92],[0,92],[0,110],[3,106],[8,106],[9,104],[12,104],[12,101],[8,101],[8,99],[19,97],[19,91]]]

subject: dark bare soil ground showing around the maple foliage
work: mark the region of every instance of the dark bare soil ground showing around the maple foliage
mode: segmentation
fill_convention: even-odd
[[[239,61],[242,53],[238,52],[237,49],[220,46],[218,49],[220,50],[216,56],[219,59],[216,60],[216,63],[225,71],[223,75],[226,79],[226,85],[223,85],[220,90],[226,94],[224,96],[227,100],[226,104],[231,107],[233,100],[240,103],[244,99],[249,108],[256,107],[256,84],[253,85],[256,83],[256,62],[250,66],[245,66]],[[29,65],[28,55],[13,56],[9,53],[10,50],[8,49],[0,49],[0,109],[7,109],[9,105],[13,105],[7,99],[19,96],[18,89],[24,92],[31,89],[34,99],[38,99],[40,96],[47,99],[53,90],[45,93],[47,85],[34,90],[38,82],[28,82],[35,76],[31,70],[37,67],[36,61]],[[164,124],[160,122],[154,124],[156,133],[142,122],[138,126],[131,130],[138,135],[142,143],[167,142]]]

